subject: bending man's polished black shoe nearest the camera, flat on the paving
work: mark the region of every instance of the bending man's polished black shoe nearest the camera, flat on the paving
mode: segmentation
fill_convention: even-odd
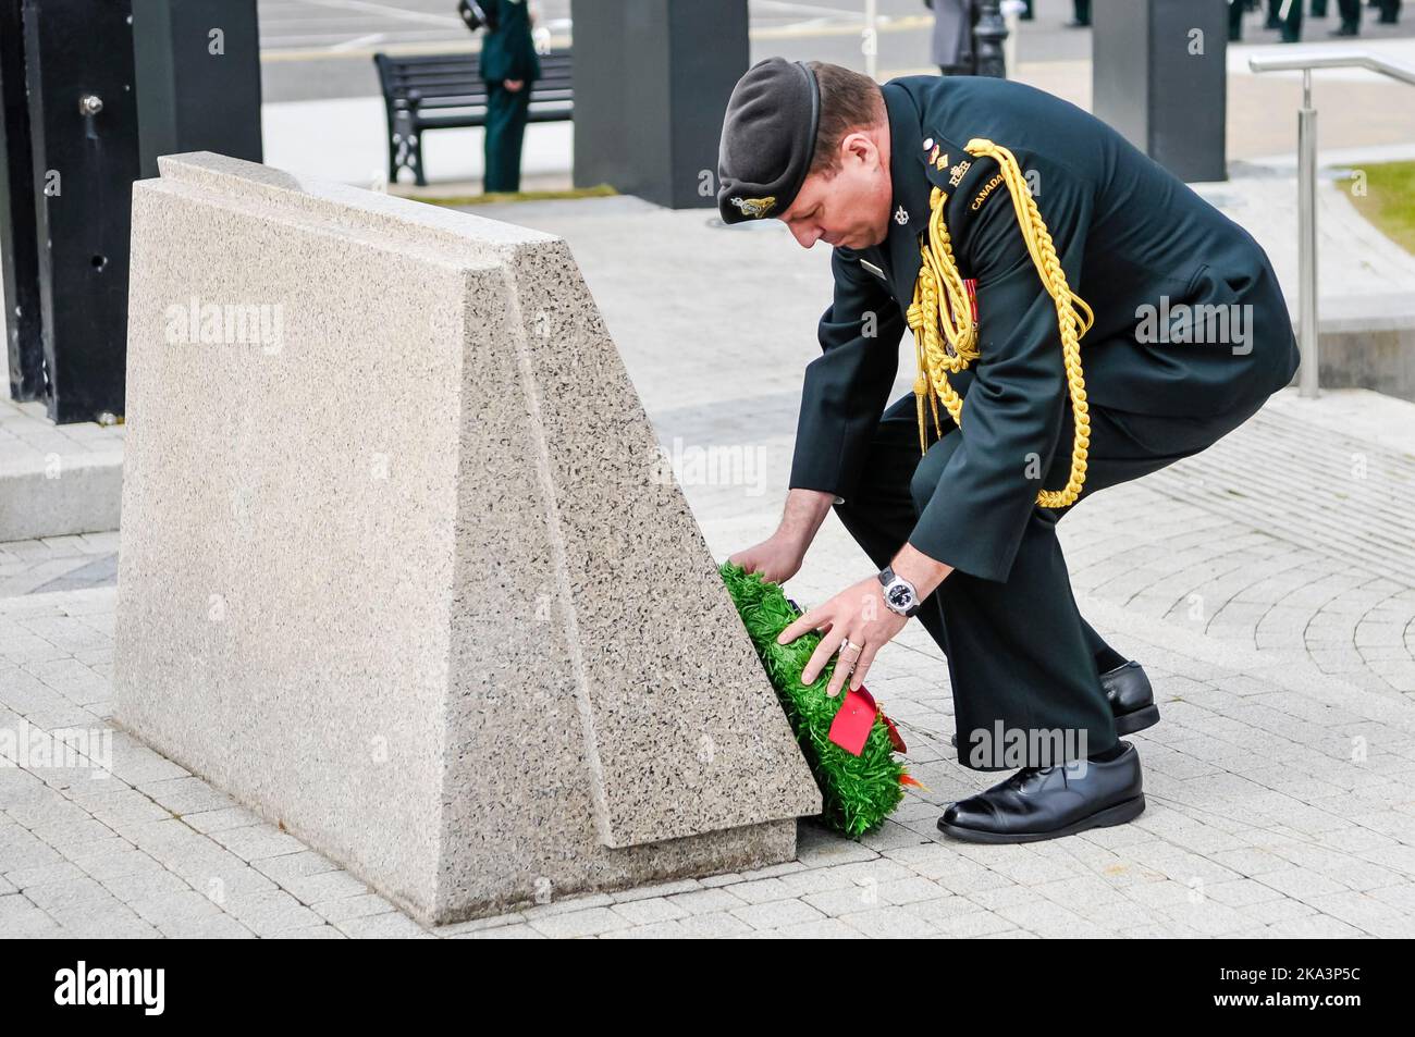
[[[1145,812],[1140,754],[1085,765],[1024,767],[986,792],[949,804],[938,829],[971,843],[1034,843],[1124,825]]]

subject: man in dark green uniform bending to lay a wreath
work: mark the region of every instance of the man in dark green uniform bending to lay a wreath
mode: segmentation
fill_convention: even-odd
[[[719,177],[726,222],[778,218],[833,246],[781,526],[732,556],[782,581],[833,506],[880,569],[782,632],[825,631],[802,680],[839,654],[831,690],[857,688],[917,615],[948,656],[959,761],[1020,768],[951,804],[945,833],[1136,816],[1139,757],[1118,734],[1157,710],[1077,611],[1056,523],[1290,381],[1262,249],[1099,120],[1003,79],[882,88],[768,58],[733,91]],[[918,375],[889,405],[906,327]]]

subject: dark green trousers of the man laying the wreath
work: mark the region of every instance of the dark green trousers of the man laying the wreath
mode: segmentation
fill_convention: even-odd
[[[971,372],[951,381],[966,395]],[[1094,407],[1085,488],[1071,506],[1105,487],[1199,453],[1257,409],[1201,420]],[[835,505],[841,522],[877,567],[884,567],[904,545],[934,492],[948,492],[938,480],[958,446],[958,433],[947,415],[940,416],[948,431],[920,457],[914,395],[891,403],[876,427],[866,474],[855,497]],[[1044,481],[1047,487],[1065,482],[1071,434],[1068,417],[1053,471]],[[1099,675],[1125,658],[1081,618],[1077,608],[1056,532],[1057,522],[1068,512],[1070,508],[1034,508],[1006,581],[982,580],[955,570],[917,615],[948,656],[958,758],[965,767],[1009,770],[1060,763],[1040,740],[1037,751],[1029,753],[1023,764],[974,757],[975,731],[988,736],[983,744],[996,746],[999,723],[1005,733],[1071,731],[1077,748],[1080,733],[1085,731],[1085,751],[1091,754],[1116,743]]]

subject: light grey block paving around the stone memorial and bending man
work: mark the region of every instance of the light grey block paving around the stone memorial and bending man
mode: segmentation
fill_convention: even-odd
[[[825,250],[633,199],[497,215],[576,249],[715,557],[768,533],[799,369],[818,348]],[[647,236],[683,262],[631,260]],[[703,255],[699,239],[717,245]],[[734,250],[750,262],[733,265]],[[723,269],[737,273],[709,291]],[[792,290],[736,304],[761,276]],[[906,338],[896,396],[910,362]],[[112,730],[110,777],[0,768],[0,922],[171,937],[1415,935],[1412,448],[1415,405],[1288,390],[1210,451],[1061,523],[1082,613],[1146,665],[1163,713],[1133,736],[1149,806],[1129,825],[1024,846],[945,840],[942,808],[986,775],[954,758],[947,666],[911,624],[870,688],[927,789],[859,843],[802,821],[788,864],[550,891],[430,931],[277,819]],[[702,477],[715,470],[693,451],[740,467]],[[93,564],[113,548],[113,535],[0,548],[0,726],[110,729],[115,589]],[[866,572],[832,518],[788,589],[818,601]]]

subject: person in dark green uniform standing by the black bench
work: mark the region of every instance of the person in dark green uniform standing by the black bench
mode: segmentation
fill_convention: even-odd
[[[497,13],[481,44],[487,82],[487,174],[483,190],[521,190],[521,141],[531,106],[531,85],[541,78],[541,58],[531,40],[526,0],[490,0]],[[494,28],[492,28],[494,25]]]

